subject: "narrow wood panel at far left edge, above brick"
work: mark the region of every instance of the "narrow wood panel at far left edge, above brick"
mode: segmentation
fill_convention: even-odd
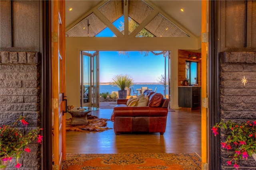
[[[12,47],[11,1],[0,2],[0,48]],[[2,22],[4,21],[4,22]],[[6,37],[10,37],[6,39]]]

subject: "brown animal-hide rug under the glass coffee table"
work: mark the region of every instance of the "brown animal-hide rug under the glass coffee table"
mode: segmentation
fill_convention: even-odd
[[[108,129],[112,129],[107,126],[107,121],[110,119],[98,118],[97,116],[87,115],[88,124],[87,125],[71,125],[71,118],[66,119],[66,131],[80,131],[80,132],[89,132],[97,131],[103,132]]]

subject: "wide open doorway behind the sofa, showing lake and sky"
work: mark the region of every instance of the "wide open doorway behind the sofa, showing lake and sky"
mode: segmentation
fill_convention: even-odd
[[[132,78],[132,92],[148,87],[170,99],[170,51],[81,51],[81,106],[99,107],[100,94],[111,98],[120,90],[113,84],[117,74]],[[128,90],[129,91],[129,90]],[[138,93],[137,93],[138,95]],[[116,99],[118,96],[116,96]]]

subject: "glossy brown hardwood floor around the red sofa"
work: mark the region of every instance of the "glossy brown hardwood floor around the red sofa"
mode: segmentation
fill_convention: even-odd
[[[92,111],[91,115],[110,119],[113,109]],[[67,113],[67,118],[71,117]],[[108,121],[113,128],[113,122]],[[169,111],[164,135],[104,132],[66,132],[66,153],[189,153],[201,156],[201,113],[188,108]]]

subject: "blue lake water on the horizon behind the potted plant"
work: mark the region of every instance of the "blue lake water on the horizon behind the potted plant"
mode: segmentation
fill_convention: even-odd
[[[148,89],[152,89],[153,91],[156,89],[157,93],[161,93],[164,95],[164,86],[161,84],[134,84],[132,87],[135,92],[137,92],[136,89],[141,89],[141,87],[148,87]],[[166,89],[167,89],[167,86],[166,86]],[[118,88],[117,86],[100,85],[100,93],[108,92],[110,94],[112,92],[118,92],[118,90],[120,90],[120,88]],[[131,91],[131,95],[135,95],[135,94],[133,94],[133,92]]]

